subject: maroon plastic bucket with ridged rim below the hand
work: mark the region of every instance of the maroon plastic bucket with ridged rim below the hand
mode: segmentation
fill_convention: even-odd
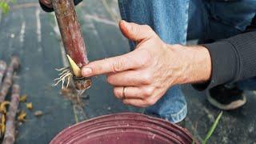
[[[50,144],[191,144],[184,128],[144,114],[110,114],[80,122],[62,130]],[[198,142],[195,142],[198,143]]]

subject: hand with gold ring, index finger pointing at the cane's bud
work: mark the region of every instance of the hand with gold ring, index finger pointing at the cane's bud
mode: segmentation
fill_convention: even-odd
[[[83,76],[107,74],[114,95],[125,104],[138,107],[151,106],[170,86],[192,80],[186,72],[190,58],[194,58],[186,54],[190,48],[167,45],[150,26],[121,21],[119,27],[126,38],[138,42],[135,50],[90,62],[82,68]]]

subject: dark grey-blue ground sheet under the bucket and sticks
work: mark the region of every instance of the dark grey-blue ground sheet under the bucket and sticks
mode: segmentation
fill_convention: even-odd
[[[67,126],[86,119],[123,111],[143,112],[115,99],[105,76],[93,78],[93,86],[79,99],[61,91],[61,86],[52,86],[58,78],[55,69],[66,66],[54,13],[42,11],[37,0],[8,3],[0,10],[0,59],[10,62],[13,54],[20,57],[21,94],[33,103],[33,110],[21,103],[19,109],[26,110],[27,116],[25,122],[18,123],[16,143],[44,144]],[[83,0],[76,10],[90,61],[130,50],[118,30],[118,0]],[[204,92],[189,85],[183,86],[183,91],[189,106],[186,128],[195,138],[203,139],[220,111],[206,102]],[[246,97],[246,106],[223,113],[209,143],[256,144],[256,92],[247,91]],[[42,116],[35,117],[36,110],[41,110]]]

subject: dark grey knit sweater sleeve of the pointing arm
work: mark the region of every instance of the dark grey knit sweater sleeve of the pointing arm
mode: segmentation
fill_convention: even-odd
[[[246,32],[203,46],[210,52],[212,73],[209,82],[193,85],[197,90],[255,77],[256,15]]]

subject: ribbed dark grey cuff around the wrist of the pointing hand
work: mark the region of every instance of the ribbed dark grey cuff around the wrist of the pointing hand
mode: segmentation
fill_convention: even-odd
[[[206,90],[219,84],[230,82],[236,74],[236,54],[230,42],[221,41],[205,44],[210,52],[212,62],[211,78],[209,82],[194,84],[196,90]]]

